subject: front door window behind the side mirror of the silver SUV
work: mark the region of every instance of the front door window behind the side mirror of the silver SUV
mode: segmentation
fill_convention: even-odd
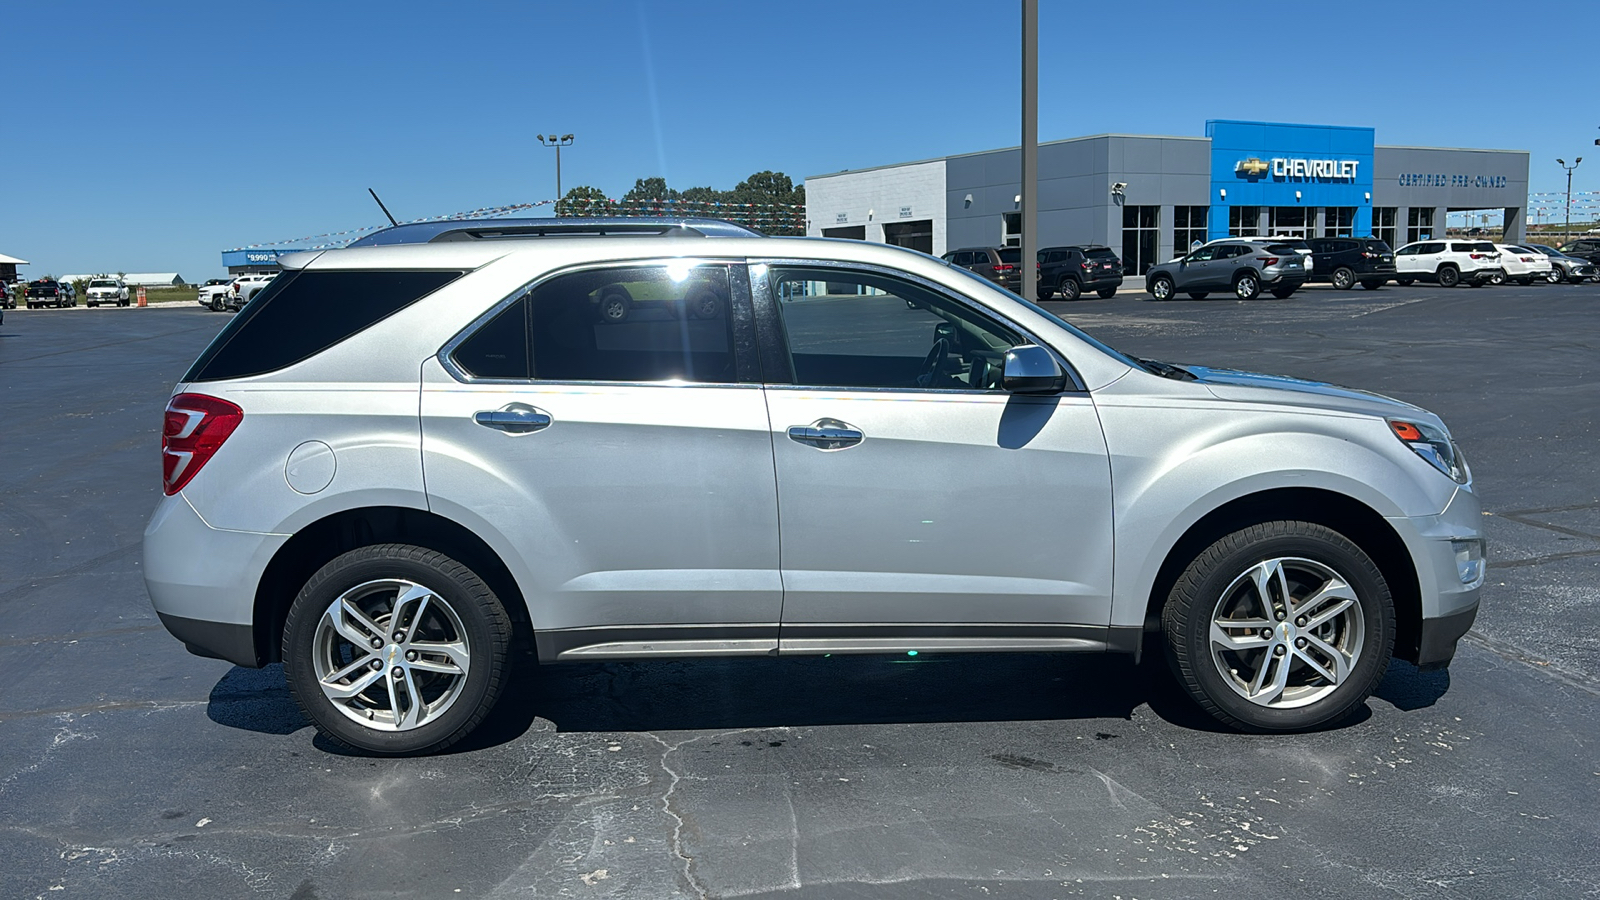
[[[797,384],[994,391],[1021,340],[930,288],[875,272],[773,269]]]

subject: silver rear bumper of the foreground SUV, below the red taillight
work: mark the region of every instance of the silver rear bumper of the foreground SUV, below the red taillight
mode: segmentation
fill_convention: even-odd
[[[190,653],[254,668],[256,586],[288,535],[213,528],[179,493],[144,528],[144,588]]]

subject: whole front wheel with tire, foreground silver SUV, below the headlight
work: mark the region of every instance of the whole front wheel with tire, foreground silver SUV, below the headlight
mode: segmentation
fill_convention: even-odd
[[[1312,522],[1266,522],[1197,556],[1162,612],[1184,690],[1218,721],[1291,732],[1349,716],[1394,652],[1378,565]]]

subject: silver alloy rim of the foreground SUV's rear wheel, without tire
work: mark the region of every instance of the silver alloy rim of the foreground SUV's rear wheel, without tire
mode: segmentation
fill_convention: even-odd
[[[406,732],[461,697],[472,658],[445,597],[403,578],[357,585],[317,621],[312,668],[323,695],[363,727]]]

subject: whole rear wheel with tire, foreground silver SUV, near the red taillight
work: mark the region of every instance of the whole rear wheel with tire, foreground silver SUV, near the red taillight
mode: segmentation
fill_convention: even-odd
[[[374,544],[323,565],[283,625],[283,669],[330,738],[381,754],[437,753],[494,706],[510,618],[466,565]]]

